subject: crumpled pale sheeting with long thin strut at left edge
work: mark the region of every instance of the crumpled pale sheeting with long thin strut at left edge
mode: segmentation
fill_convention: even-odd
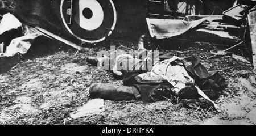
[[[73,48],[76,48],[79,51],[87,50],[87,48],[82,48],[77,46],[76,44],[61,38],[45,29],[39,27],[30,27],[28,25],[22,24],[19,20],[12,14],[8,13],[3,15],[3,18],[0,23],[0,36],[7,35],[5,32],[7,31],[15,31],[15,29],[22,28],[19,31],[22,31],[21,37],[13,37],[10,41],[10,45],[5,45],[0,43],[0,57],[11,57],[16,53],[26,54],[32,42],[38,36],[46,36],[50,39],[59,40]],[[18,30],[17,30],[18,31]],[[4,50],[4,46],[6,46],[6,50]]]

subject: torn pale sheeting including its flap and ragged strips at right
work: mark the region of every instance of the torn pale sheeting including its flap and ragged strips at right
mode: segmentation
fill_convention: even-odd
[[[203,28],[200,27],[200,29],[196,30],[197,32],[211,33],[213,35],[228,39],[238,39],[238,36],[230,35],[229,31],[237,31],[238,29],[240,29],[235,25],[218,22],[217,20],[222,20],[222,15],[187,16],[187,20],[190,21],[149,18],[147,18],[146,20],[151,37],[155,37],[156,39],[165,39],[182,35],[183,33],[197,27],[198,25],[202,26]]]

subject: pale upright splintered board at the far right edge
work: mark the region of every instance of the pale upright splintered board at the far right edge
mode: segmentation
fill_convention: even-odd
[[[248,22],[250,25],[251,32],[251,46],[253,49],[253,66],[254,70],[256,70],[256,8],[253,8],[249,11]]]

